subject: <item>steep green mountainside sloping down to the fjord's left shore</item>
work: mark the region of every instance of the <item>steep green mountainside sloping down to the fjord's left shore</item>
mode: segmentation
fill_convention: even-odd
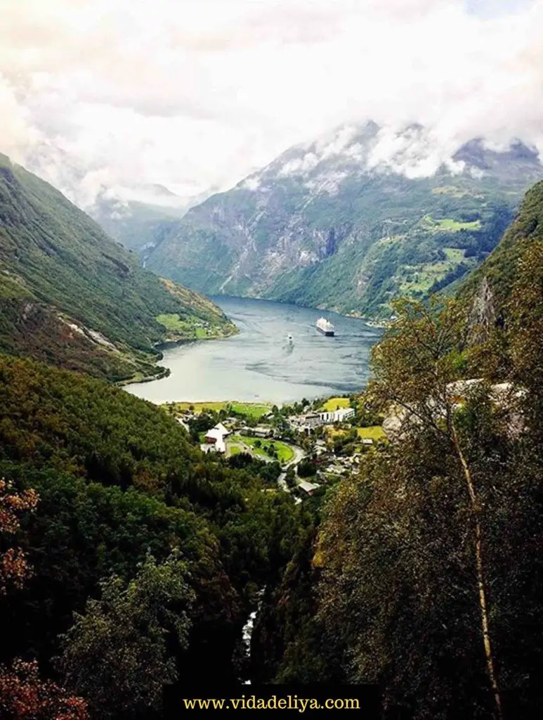
[[[211,301],[142,269],[0,155],[0,351],[121,380],[163,372],[157,343],[234,331]]]

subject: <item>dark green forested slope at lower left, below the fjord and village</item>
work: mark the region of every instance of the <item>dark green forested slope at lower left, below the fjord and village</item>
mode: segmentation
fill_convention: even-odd
[[[42,683],[40,718],[72,697],[124,718],[163,716],[204,677],[237,682],[256,593],[311,514],[263,492],[260,464],[202,455],[96,379],[2,356],[0,416],[0,688]],[[18,717],[6,694],[0,716]]]

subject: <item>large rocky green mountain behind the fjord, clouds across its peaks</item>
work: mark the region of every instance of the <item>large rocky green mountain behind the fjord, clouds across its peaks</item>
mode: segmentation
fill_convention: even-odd
[[[163,228],[147,267],[210,294],[383,317],[397,294],[424,297],[480,263],[542,177],[518,141],[445,152],[418,125],[343,127]]]

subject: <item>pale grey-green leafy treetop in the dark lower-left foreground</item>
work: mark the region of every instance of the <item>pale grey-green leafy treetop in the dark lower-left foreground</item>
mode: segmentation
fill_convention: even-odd
[[[161,564],[148,555],[127,586],[104,580],[100,600],[88,600],[63,637],[65,683],[101,718],[159,709],[163,687],[178,678],[168,647],[186,649],[193,599],[176,554]]]

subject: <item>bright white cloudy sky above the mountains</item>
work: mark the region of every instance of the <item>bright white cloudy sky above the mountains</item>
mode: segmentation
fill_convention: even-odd
[[[0,0],[0,13],[0,151],[82,206],[101,186],[225,189],[368,118],[543,150],[542,0]]]

